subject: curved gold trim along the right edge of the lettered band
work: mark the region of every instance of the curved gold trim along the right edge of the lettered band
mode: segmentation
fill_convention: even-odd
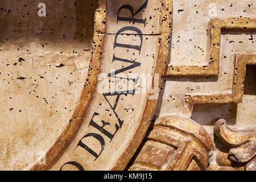
[[[171,25],[172,25],[172,0],[162,0],[162,14],[161,14],[161,32],[160,39],[161,43],[158,51],[158,58],[155,64],[155,74],[159,75],[159,87],[161,84],[160,76],[164,73],[164,65],[168,57],[169,43],[171,40]],[[152,78],[152,85],[154,85],[154,77]],[[154,88],[153,88],[154,89]],[[149,97],[149,96],[148,96]],[[131,139],[129,146],[126,148],[125,152],[118,159],[112,168],[113,171],[120,171],[125,169],[127,164],[130,162],[131,158],[137,151],[139,145],[141,144],[143,138],[145,137],[148,127],[151,124],[151,119],[154,114],[156,100],[150,100],[147,98],[146,105],[142,114],[139,126]]]

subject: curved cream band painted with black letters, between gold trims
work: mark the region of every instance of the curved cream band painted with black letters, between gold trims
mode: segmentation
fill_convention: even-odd
[[[150,18],[158,17],[160,14],[159,6],[160,4],[152,1],[148,1],[147,9],[141,11],[135,18],[146,18],[145,27],[141,26],[141,23],[129,23],[129,22],[118,22],[117,23],[117,12],[118,9],[122,5],[131,5],[135,11],[139,9],[145,2],[144,0],[139,1],[106,1],[107,2],[107,28],[104,49],[102,50],[102,60],[100,67],[100,75],[109,74],[112,71],[117,71],[118,69],[128,67],[131,63],[125,63],[122,61],[113,61],[113,55],[115,57],[120,57],[122,59],[131,60],[137,63],[141,63],[139,67],[135,67],[133,69],[129,69],[125,72],[119,73],[117,77],[127,78],[129,77],[129,73],[134,74],[150,74],[154,73],[155,63],[157,60],[158,49],[159,49],[159,35],[155,35],[159,33],[159,19],[158,18]],[[157,8],[156,8],[157,7]],[[154,10],[156,8],[156,10]],[[130,11],[122,10],[120,15],[127,16]],[[117,35],[117,31],[120,28],[126,26],[134,26],[139,28],[142,31],[143,40],[142,40],[142,49],[141,52],[132,48],[124,48],[124,47],[116,47],[114,48],[114,40],[115,35]],[[153,32],[148,32],[150,28],[156,26]],[[127,35],[126,35],[127,34]],[[138,34],[134,31],[125,31],[122,34],[119,34],[117,37],[117,42],[122,44],[130,44],[130,45],[140,45],[141,40]],[[148,34],[148,35],[147,35]],[[117,88],[116,91],[126,90],[125,85],[121,84],[118,87],[118,82],[123,81],[118,78],[107,78],[106,87],[110,86],[110,83],[114,81],[114,87]],[[130,77],[129,77],[130,78]],[[137,76],[133,76],[133,78],[137,78]],[[132,81],[130,81],[132,82]],[[96,84],[96,88],[98,88],[101,81],[98,81]],[[138,84],[134,84],[132,89],[137,88],[141,89],[142,82]],[[109,96],[108,100],[112,106],[114,106],[115,98],[113,96]],[[113,168],[114,164],[118,161],[120,156],[125,152],[127,146],[129,145],[131,138],[135,134],[136,129],[138,128],[139,122],[141,122],[142,113],[144,110],[144,106],[147,100],[147,92],[142,93],[139,91],[135,93],[134,96],[131,94],[122,94],[117,102],[117,108],[115,112],[118,117],[114,114],[108,102],[105,100],[102,93],[94,92],[91,104],[89,105],[88,110],[86,111],[85,117],[82,121],[82,125],[77,131],[76,137],[72,140],[71,144],[67,147],[64,154],[61,155],[60,159],[51,167],[51,170],[59,170],[65,163],[75,161],[79,163],[84,170],[110,170]],[[97,112],[99,115],[93,118],[94,112]],[[123,120],[123,126],[119,128],[117,133],[114,135],[114,138],[110,141],[106,135],[102,134],[98,129],[89,125],[89,122],[93,118],[93,121],[96,122],[99,126],[102,126],[101,121],[109,122],[110,125],[106,125],[104,127],[105,130],[109,131],[109,133],[114,134],[116,128],[115,124],[119,125],[118,118]],[[150,122],[150,121],[148,121]],[[84,144],[86,144],[89,148],[95,151],[97,154],[101,151],[100,142],[93,138],[87,137],[82,139],[86,134],[96,133],[100,134],[105,141],[104,150],[101,155],[96,159],[92,154],[86,151],[81,146],[78,146],[79,141],[81,140]],[[143,135],[143,134],[142,134]],[[96,159],[96,160],[95,160]],[[77,167],[72,166],[71,164],[65,164],[62,168],[63,170],[77,170]]]

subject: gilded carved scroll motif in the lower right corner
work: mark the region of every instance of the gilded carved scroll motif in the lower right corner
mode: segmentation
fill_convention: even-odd
[[[255,171],[256,129],[231,129],[225,119],[219,119],[214,125],[214,133],[225,146],[230,147],[229,153],[218,151],[217,166],[210,165],[208,170],[225,170],[234,167]],[[214,167],[213,167],[214,166]],[[225,166],[225,167],[220,167]]]

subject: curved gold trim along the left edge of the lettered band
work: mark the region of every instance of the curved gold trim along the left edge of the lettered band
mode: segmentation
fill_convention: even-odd
[[[82,118],[84,117],[85,110],[89,105],[90,99],[94,91],[94,86],[97,81],[98,72],[100,69],[102,46],[105,38],[105,34],[100,32],[105,32],[106,27],[106,4],[105,0],[97,0],[98,8],[94,15],[94,34],[92,42],[92,58],[90,60],[89,69],[86,77],[86,82],[84,84],[84,89],[82,90],[79,103],[69,121],[67,127],[65,127],[63,133],[56,140],[56,142],[51,146],[46,154],[46,164],[35,164],[30,170],[44,170],[49,164],[56,159],[57,155],[67,146],[69,140],[76,133],[79,128]]]

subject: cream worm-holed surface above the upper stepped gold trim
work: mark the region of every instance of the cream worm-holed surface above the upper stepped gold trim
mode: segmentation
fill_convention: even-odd
[[[240,16],[256,16],[254,1],[174,1],[170,63],[179,65],[207,64],[210,46],[208,41],[210,19],[238,18]]]

